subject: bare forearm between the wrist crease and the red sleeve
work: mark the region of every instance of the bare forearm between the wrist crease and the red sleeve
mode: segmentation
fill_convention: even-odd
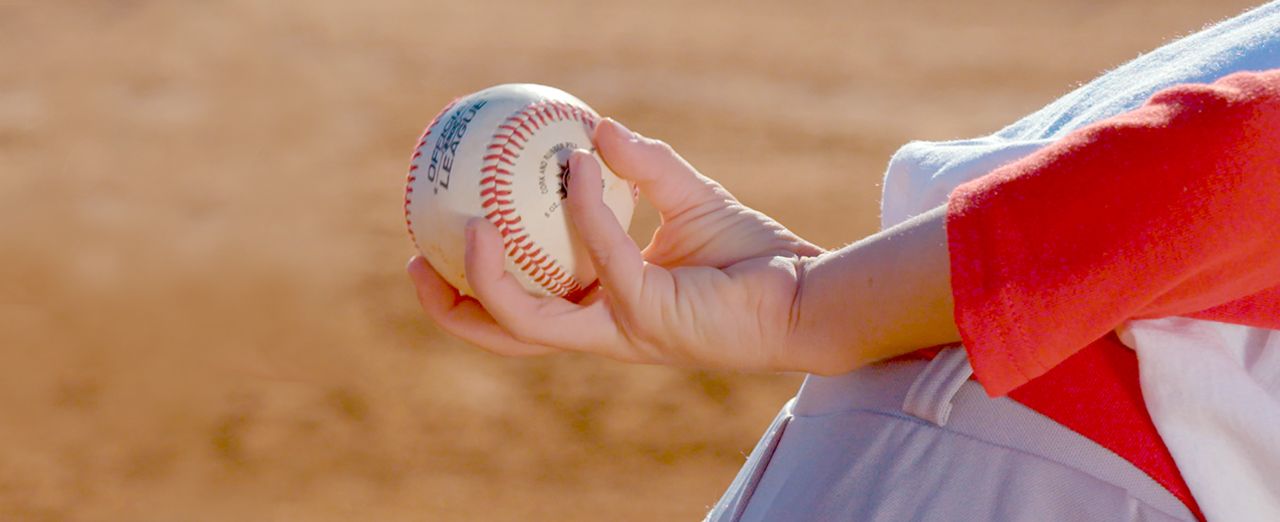
[[[960,340],[946,207],[800,261],[791,345],[805,370],[836,375]]]

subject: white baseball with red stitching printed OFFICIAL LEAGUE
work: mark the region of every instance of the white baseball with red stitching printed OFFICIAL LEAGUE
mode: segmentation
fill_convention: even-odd
[[[426,127],[404,188],[404,221],[419,252],[449,284],[467,284],[465,229],[484,216],[502,234],[507,271],[529,292],[576,297],[595,270],[564,209],[568,155],[593,150],[599,115],[561,90],[489,87],[454,100]],[[599,156],[596,156],[599,161]],[[600,161],[604,202],[623,228],[631,186]]]

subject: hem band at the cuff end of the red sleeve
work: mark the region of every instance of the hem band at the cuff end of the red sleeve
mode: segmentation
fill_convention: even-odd
[[[991,234],[982,226],[982,220],[975,212],[969,212],[982,207],[973,201],[982,193],[974,187],[977,182],[965,183],[947,200],[946,230],[954,319],[960,342],[969,354],[974,379],[987,395],[1002,397],[1048,368],[1015,349],[1018,345],[1030,344],[1025,335],[1018,335],[1016,324],[1012,322],[1016,317],[1009,312],[1010,303],[1001,299],[993,289],[1000,284],[1000,267],[988,266],[986,260],[998,252],[998,248],[988,241]],[[988,206],[984,211],[997,210]]]

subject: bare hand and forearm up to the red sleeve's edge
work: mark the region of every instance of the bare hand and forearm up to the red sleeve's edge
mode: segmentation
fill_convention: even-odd
[[[800,239],[700,175],[662,142],[607,120],[602,156],[662,215],[640,251],[599,201],[575,154],[568,211],[602,284],[580,303],[535,298],[504,274],[502,243],[468,226],[460,296],[419,257],[422,308],[447,331],[507,356],[589,352],[630,362],[838,374],[959,339],[951,321],[943,209],[837,252]]]

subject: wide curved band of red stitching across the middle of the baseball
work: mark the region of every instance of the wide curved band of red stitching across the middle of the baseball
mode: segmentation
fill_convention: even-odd
[[[512,198],[511,166],[516,165],[525,145],[534,133],[556,122],[575,120],[594,129],[595,114],[557,100],[544,100],[527,105],[507,118],[493,141],[485,148],[484,166],[480,169],[480,200],[485,219],[502,234],[507,257],[516,262],[521,273],[535,284],[559,297],[572,297],[582,292],[582,285],[559,262],[543,252],[525,228]]]

